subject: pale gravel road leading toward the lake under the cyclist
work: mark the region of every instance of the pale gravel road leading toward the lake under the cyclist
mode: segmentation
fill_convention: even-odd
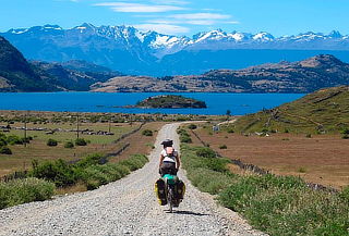
[[[177,144],[179,124],[158,133],[149,163],[129,176],[100,188],[55,200],[26,203],[0,211],[0,235],[263,235],[237,213],[219,207],[185,177],[183,202],[174,213],[160,207],[154,192],[160,141]]]

